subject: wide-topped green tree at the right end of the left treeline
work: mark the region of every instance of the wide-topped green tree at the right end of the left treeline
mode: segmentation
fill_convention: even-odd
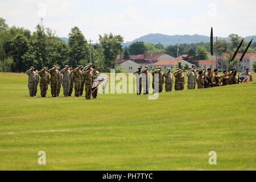
[[[123,38],[121,35],[113,35],[112,33],[104,34],[103,36],[100,35],[100,43],[104,49],[105,71],[110,71],[114,68],[117,56],[122,49]]]

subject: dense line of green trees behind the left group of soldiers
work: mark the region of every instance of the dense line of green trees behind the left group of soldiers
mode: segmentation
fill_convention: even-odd
[[[121,35],[100,35],[99,44],[90,45],[79,27],[73,27],[68,43],[60,40],[49,28],[38,24],[31,32],[26,28],[9,27],[0,18],[0,71],[25,72],[30,66],[63,68],[86,65],[92,60],[100,72],[109,72],[122,49]]]

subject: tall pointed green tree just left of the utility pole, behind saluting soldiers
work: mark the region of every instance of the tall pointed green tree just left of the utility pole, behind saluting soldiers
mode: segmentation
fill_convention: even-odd
[[[69,65],[76,67],[89,62],[89,46],[79,27],[73,27],[68,35],[68,44],[70,47]]]

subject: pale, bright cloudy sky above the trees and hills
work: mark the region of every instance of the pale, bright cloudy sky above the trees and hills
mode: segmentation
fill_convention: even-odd
[[[10,25],[44,26],[68,36],[79,26],[86,39],[113,32],[125,41],[150,33],[167,35],[256,35],[255,0],[0,0],[0,16]]]

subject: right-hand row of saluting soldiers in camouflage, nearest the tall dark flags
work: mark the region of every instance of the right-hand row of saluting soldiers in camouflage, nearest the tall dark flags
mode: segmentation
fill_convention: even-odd
[[[141,68],[138,68],[138,70],[134,72],[134,75],[137,77],[137,94],[140,95],[142,93],[142,88],[143,94],[148,94],[150,89],[150,73],[148,72],[148,66],[145,66],[143,71]],[[246,69],[246,72],[242,73],[242,75],[250,76],[252,81],[249,69]],[[155,81],[156,76],[158,77],[157,81]],[[161,93],[163,92],[163,84],[165,83],[166,92],[172,91],[173,84],[175,84],[175,90],[184,90],[185,77],[183,70],[177,69],[174,73],[174,77],[172,76],[170,68],[163,73],[162,67],[158,67],[152,72],[152,89],[155,93]],[[219,75],[218,69],[214,69],[214,71],[212,71],[212,68],[209,68],[204,69],[204,71],[200,71],[197,75],[196,65],[192,65],[187,72],[187,77],[188,90],[196,89],[196,84],[198,89],[204,89],[214,86],[225,86],[239,83],[239,77],[237,76],[236,69],[232,69],[230,72],[225,70],[223,71],[223,75]],[[158,91],[155,90],[155,84],[158,84]]]

